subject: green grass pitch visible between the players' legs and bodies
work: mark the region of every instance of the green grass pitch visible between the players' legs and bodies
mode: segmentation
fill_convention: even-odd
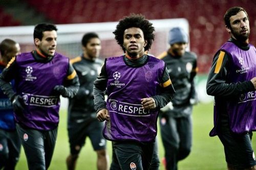
[[[225,157],[222,144],[218,137],[209,137],[209,131],[213,125],[213,105],[199,104],[194,107],[193,112],[193,147],[190,155],[179,162],[179,169],[181,170],[218,170],[225,169]],[[252,146],[256,150],[256,136],[255,132],[252,137]],[[159,154],[160,160],[162,159],[163,145],[158,134]],[[111,159],[111,143],[108,142],[108,152]],[[66,157],[69,154],[69,143],[67,134],[67,112],[60,112],[60,123],[58,129],[58,137],[56,147],[53,155],[53,159],[49,170],[62,170],[67,169]],[[19,162],[16,169],[26,170],[28,169],[26,157],[22,150]],[[76,169],[96,169],[96,153],[92,149],[92,145],[89,139],[87,139],[86,146],[83,147],[80,157],[77,162]],[[161,163],[160,169],[164,170]]]

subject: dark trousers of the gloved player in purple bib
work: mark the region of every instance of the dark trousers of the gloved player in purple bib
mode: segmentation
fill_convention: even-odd
[[[30,170],[48,169],[56,143],[57,128],[49,131],[26,129],[16,124]]]

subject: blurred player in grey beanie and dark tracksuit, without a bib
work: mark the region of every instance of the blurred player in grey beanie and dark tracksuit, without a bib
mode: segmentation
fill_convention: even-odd
[[[178,169],[178,161],[186,158],[191,150],[193,105],[197,103],[194,78],[197,74],[197,56],[186,52],[188,36],[182,28],[169,31],[167,52],[162,59],[173,81],[175,96],[160,111],[161,138],[164,146],[166,170]]]

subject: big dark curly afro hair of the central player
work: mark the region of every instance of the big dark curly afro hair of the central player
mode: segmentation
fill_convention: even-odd
[[[116,26],[116,30],[113,32],[115,34],[115,39],[117,43],[122,47],[122,50],[125,52],[125,48],[123,47],[123,34],[124,30],[135,27],[140,28],[143,32],[144,39],[147,41],[144,50],[150,50],[151,45],[155,39],[154,31],[155,28],[152,26],[153,24],[149,22],[145,16],[141,14],[132,13],[130,16],[125,16],[121,19]]]

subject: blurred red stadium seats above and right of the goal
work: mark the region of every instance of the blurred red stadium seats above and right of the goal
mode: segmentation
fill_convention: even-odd
[[[215,52],[229,37],[224,29],[223,15],[232,6],[242,6],[247,10],[250,16],[250,40],[255,44],[255,0],[1,0],[0,27],[34,26],[45,21],[61,25],[113,22],[130,13],[141,13],[148,19],[186,18],[190,50],[198,55],[199,72],[206,74]],[[76,45],[75,51],[80,51],[79,45]],[[103,42],[102,45],[103,55],[109,54],[105,52],[108,50],[120,51],[118,46],[112,47],[114,40]],[[153,52],[154,46],[158,45],[153,44]],[[22,46],[23,51],[28,49]],[[74,57],[72,53],[66,54]]]

